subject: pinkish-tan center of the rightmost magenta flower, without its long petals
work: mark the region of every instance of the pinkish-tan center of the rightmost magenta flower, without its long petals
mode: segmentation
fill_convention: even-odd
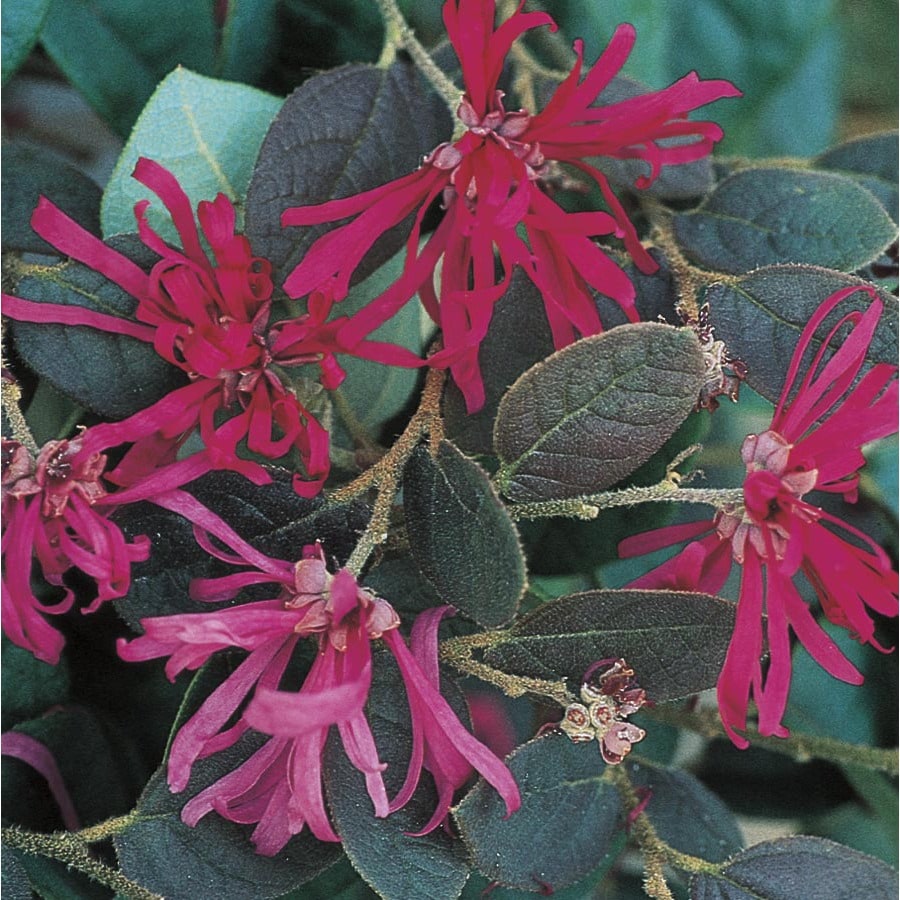
[[[792,448],[777,431],[751,434],[741,447],[747,466],[744,503],[720,510],[716,518],[716,530],[731,541],[738,563],[744,561],[748,541],[760,558],[783,559],[791,520],[813,517],[812,507],[802,499],[816,486],[818,471],[791,469]]]

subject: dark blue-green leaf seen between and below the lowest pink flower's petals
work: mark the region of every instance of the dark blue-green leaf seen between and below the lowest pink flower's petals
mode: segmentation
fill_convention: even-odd
[[[446,685],[444,685],[446,688]],[[459,697],[457,696],[457,701]],[[409,706],[397,667],[387,654],[375,659],[366,717],[375,735],[388,796],[403,784],[412,747]],[[430,818],[436,793],[423,778],[412,800],[385,819],[376,819],[366,794],[365,777],[347,759],[333,731],[326,748],[325,786],[335,826],[354,868],[381,897],[400,900],[454,900],[468,874],[459,841],[442,828],[423,837],[418,831]]]

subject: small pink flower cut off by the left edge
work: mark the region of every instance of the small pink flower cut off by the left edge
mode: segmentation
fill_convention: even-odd
[[[3,630],[14,644],[54,665],[65,642],[44,617],[72,608],[75,596],[63,575],[74,567],[96,582],[97,597],[82,610],[93,612],[128,592],[131,563],[150,552],[146,538],[128,543],[109,521],[113,507],[100,481],[106,457],[86,454],[83,443],[84,434],[50,441],[35,460],[18,441],[2,442]],[[65,588],[58,602],[35,596],[32,559],[50,584]]]

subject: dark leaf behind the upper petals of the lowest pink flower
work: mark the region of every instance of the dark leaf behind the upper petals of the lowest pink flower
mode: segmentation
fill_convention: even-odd
[[[329,559],[346,560],[368,521],[368,507],[358,501],[328,504],[321,496],[298,497],[290,473],[270,471],[273,483],[262,486],[232,472],[211,472],[193,482],[190,492],[269,556],[299,559],[305,544],[321,540]],[[218,563],[197,544],[186,519],[142,503],[121,509],[116,522],[127,534],[146,534],[153,543],[150,559],[132,570],[128,595],[116,601],[129,625],[137,628],[148,616],[215,608],[189,598],[191,580],[235,569]]]

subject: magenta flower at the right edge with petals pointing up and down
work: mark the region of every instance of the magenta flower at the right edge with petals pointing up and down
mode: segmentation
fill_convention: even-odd
[[[851,312],[832,329],[802,380],[804,354],[815,330],[848,296],[872,297],[865,312]],[[744,502],[720,509],[712,520],[675,525],[628,538],[621,556],[648,553],[685,540],[677,556],[637,579],[632,587],[671,587],[717,593],[733,562],[742,567],[734,634],[718,681],[719,712],[738,747],[748,741],[752,699],[760,734],[784,737],[781,719],[791,680],[790,632],[835,678],[860,684],[862,675],[818,625],[795,577],[812,586],[829,621],[863,643],[878,647],[868,610],[897,615],[897,573],[869,537],[813,506],[810,491],[856,500],[861,447],[897,431],[897,367],[882,363],[857,377],[865,361],[882,303],[870,288],[847,288],[829,297],[800,336],[772,424],[744,441]],[[827,362],[825,348],[847,323],[852,329]],[[769,666],[760,663],[766,619]],[[879,649],[882,649],[879,647]]]

